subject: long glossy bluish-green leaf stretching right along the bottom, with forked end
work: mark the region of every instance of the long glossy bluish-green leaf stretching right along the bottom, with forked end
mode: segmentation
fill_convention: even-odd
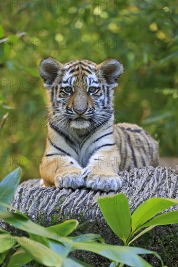
[[[74,242],[72,250],[89,250],[91,252],[104,256],[107,259],[118,261],[131,267],[151,267],[149,263],[147,263],[137,254],[154,253],[150,250],[139,248],[82,242]]]

